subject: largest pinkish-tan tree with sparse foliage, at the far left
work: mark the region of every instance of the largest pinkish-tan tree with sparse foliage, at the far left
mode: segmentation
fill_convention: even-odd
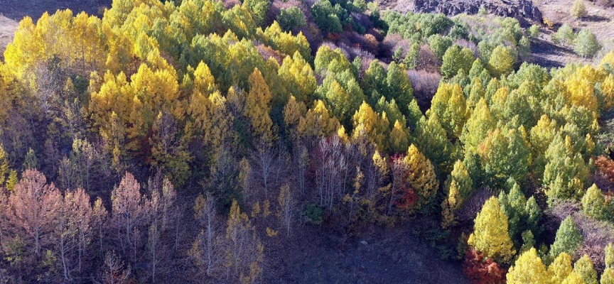
[[[53,220],[62,204],[58,188],[47,184],[37,170],[26,170],[9,196],[9,224],[16,236],[28,241],[28,249],[40,256],[41,248],[50,242]]]

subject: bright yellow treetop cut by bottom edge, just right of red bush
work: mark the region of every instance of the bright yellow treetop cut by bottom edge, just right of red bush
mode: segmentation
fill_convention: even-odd
[[[534,248],[520,255],[505,275],[509,284],[549,283],[549,274]]]

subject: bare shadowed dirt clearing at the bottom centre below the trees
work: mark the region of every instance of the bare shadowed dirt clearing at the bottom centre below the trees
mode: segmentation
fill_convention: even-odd
[[[469,283],[460,262],[441,261],[411,224],[374,226],[340,239],[313,226],[268,252],[265,283]],[[271,255],[273,254],[273,255]]]

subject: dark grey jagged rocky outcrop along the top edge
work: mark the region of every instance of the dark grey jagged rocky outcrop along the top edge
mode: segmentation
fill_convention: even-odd
[[[488,13],[497,16],[513,17],[535,22],[542,22],[542,12],[530,0],[502,0],[494,3],[488,0],[413,0],[414,11],[419,13],[443,13],[446,16],[456,16],[459,13],[469,15],[478,13],[484,7]]]

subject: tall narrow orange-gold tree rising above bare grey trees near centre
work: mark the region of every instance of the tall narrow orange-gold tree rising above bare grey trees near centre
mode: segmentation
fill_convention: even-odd
[[[271,92],[258,68],[249,76],[249,92],[246,97],[245,114],[252,122],[254,135],[265,142],[273,140],[273,121],[271,121]]]

